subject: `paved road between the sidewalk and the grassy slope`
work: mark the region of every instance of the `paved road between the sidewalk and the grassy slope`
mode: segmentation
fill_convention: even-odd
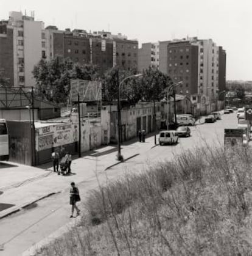
[[[236,126],[236,114],[229,114],[222,115],[222,120],[216,123],[192,127],[192,136],[181,138],[178,145],[158,145],[144,153],[139,152],[141,155],[128,160],[127,163],[119,164],[106,172],[99,172],[97,174],[99,181],[103,183],[107,178],[117,178],[125,172],[141,171],[158,161],[172,161],[173,154],[178,154],[181,150],[192,148],[195,145],[204,145],[205,142],[209,144],[217,141],[223,142],[224,128],[236,128]],[[90,189],[96,187],[97,179],[94,175],[79,184],[82,199],[85,199]],[[0,220],[0,244],[4,244],[2,251],[0,247],[0,256],[19,255],[63,225],[76,221],[77,219],[69,219],[68,190],[66,188],[63,193],[41,200],[33,208]]]

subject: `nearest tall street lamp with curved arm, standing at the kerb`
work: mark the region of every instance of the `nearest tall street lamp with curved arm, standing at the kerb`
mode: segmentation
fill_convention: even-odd
[[[117,70],[117,126],[118,126],[118,152],[117,152],[117,160],[118,161],[124,161],[124,157],[121,155],[121,101],[120,101],[120,90],[122,84],[130,79],[130,78],[140,78],[142,74],[137,75],[131,75],[127,76],[126,78],[122,79],[122,81],[119,83],[119,72]]]

